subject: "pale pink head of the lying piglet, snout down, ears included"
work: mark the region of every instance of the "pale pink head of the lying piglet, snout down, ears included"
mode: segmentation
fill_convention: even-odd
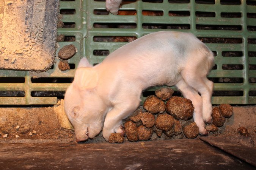
[[[94,138],[104,124],[105,104],[96,92],[97,82],[97,71],[82,59],[64,98],[64,109],[78,142]]]

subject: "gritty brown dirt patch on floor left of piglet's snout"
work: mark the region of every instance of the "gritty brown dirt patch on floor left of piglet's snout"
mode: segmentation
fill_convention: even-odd
[[[74,141],[74,132],[61,128],[53,107],[0,108],[0,133],[2,142],[26,142],[24,139]]]

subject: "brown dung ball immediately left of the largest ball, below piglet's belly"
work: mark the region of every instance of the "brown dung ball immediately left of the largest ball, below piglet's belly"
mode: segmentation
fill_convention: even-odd
[[[151,95],[145,99],[143,108],[152,114],[163,113],[165,111],[165,103],[156,96]]]

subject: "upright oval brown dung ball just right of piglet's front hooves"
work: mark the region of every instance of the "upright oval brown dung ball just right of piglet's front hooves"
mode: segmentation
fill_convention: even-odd
[[[138,141],[137,126],[132,121],[127,121],[124,124],[124,131],[129,141],[132,141],[132,142]]]

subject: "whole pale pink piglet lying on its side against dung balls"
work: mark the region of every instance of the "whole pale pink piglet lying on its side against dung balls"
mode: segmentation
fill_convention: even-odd
[[[213,65],[212,51],[204,43],[193,34],[176,31],[143,36],[96,66],[81,59],[64,99],[77,141],[94,138],[102,128],[106,141],[111,133],[124,134],[122,119],[138,108],[141,91],[156,85],[176,85],[192,100],[193,120],[199,133],[206,135],[213,90],[206,75]]]

